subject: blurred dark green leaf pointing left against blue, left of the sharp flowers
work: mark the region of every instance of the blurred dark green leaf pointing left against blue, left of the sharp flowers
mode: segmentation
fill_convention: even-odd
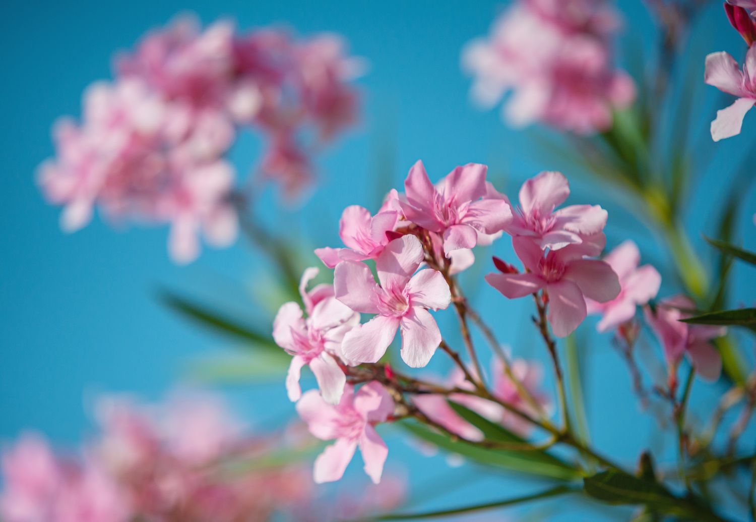
[[[253,344],[266,350],[281,352],[281,349],[274,343],[270,334],[263,334],[253,326],[244,325],[243,322],[216,312],[210,309],[209,306],[194,303],[170,291],[160,291],[158,297],[164,305],[177,312],[178,315],[183,315],[184,318],[188,318],[209,330],[224,334],[227,337],[243,340],[247,344]]]

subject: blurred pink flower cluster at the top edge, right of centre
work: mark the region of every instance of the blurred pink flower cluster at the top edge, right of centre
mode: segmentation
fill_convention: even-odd
[[[612,64],[618,17],[606,0],[518,0],[488,39],[470,42],[463,68],[472,97],[492,107],[513,94],[503,117],[514,126],[541,121],[591,134],[612,126],[612,110],[635,98],[634,82]]]

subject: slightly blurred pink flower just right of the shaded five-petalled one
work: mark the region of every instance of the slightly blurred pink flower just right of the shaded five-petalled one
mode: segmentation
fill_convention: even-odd
[[[649,299],[656,297],[662,284],[662,276],[653,266],[638,267],[640,252],[633,241],[624,241],[606,254],[604,261],[609,263],[617,274],[621,291],[615,299],[607,303],[586,299],[588,313],[603,315],[596,325],[598,331],[612,330],[630,321],[635,315],[635,307],[643,306]]]

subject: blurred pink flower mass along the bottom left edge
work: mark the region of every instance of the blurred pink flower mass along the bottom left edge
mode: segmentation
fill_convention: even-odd
[[[155,406],[107,397],[98,404],[98,419],[101,433],[85,445],[83,458],[55,453],[33,433],[3,452],[3,520],[236,522],[283,516],[324,522],[333,513],[364,517],[403,500],[397,480],[366,490],[372,502],[361,505],[321,499],[296,462],[228,471],[240,459],[264,461],[279,449],[269,437],[244,434],[223,403],[204,393],[182,393]],[[290,446],[301,444],[296,430],[289,431]]]

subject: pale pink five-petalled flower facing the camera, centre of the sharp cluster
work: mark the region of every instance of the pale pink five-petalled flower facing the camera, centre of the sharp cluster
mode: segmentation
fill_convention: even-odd
[[[376,259],[380,286],[364,263],[342,261],[336,266],[336,299],[355,312],[376,314],[345,335],[342,353],[347,359],[378,361],[399,328],[404,362],[414,368],[428,364],[441,343],[428,309],[445,309],[451,293],[441,272],[425,269],[415,274],[423,258],[420,240],[404,235],[386,245]]]

